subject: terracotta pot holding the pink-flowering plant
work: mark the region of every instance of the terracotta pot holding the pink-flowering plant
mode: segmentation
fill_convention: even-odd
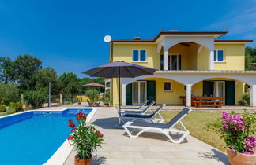
[[[256,163],[256,154],[244,154],[228,149],[228,161],[232,165],[254,165]]]

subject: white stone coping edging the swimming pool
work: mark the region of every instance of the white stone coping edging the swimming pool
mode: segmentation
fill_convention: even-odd
[[[10,114],[7,116],[0,116],[0,119],[2,118],[6,118],[9,116],[16,116],[18,114],[22,114],[22,113],[27,113],[27,112],[46,112],[46,111],[51,111],[51,112],[62,112],[65,111],[66,109],[70,109],[70,108],[76,108],[76,109],[85,109],[85,108],[90,108],[92,109],[91,112],[89,112],[88,116],[86,116],[86,123],[89,123],[92,119],[92,116],[95,114],[96,109],[97,108],[91,108],[91,107],[65,107],[62,109],[34,109],[34,110],[28,110],[25,112],[18,112],[18,113],[14,113],[14,114]],[[62,165],[66,162],[66,159],[68,158],[68,156],[70,156],[70,153],[73,150],[73,145],[70,145],[69,141],[66,140],[62,143],[62,145],[55,151],[55,153],[50,157],[50,159],[47,160],[46,163],[44,163],[44,165]]]

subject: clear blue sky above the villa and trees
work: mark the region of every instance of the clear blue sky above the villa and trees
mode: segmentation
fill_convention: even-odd
[[[228,30],[256,39],[256,0],[0,0],[0,57],[31,54],[58,75],[108,62],[104,35],[154,38],[160,31]],[[255,42],[249,46],[255,46]]]

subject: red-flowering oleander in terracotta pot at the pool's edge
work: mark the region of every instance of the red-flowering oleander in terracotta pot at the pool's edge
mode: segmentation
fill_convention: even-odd
[[[76,165],[91,165],[92,152],[95,152],[100,147],[103,140],[103,134],[95,127],[86,123],[86,116],[82,112],[77,113],[76,120],[69,120],[72,134],[68,138],[70,145],[74,145],[77,149],[75,156]]]

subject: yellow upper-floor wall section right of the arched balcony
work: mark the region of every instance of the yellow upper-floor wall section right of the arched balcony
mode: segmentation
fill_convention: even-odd
[[[244,44],[215,44],[215,49],[224,49],[225,62],[215,62],[215,70],[244,70]]]

